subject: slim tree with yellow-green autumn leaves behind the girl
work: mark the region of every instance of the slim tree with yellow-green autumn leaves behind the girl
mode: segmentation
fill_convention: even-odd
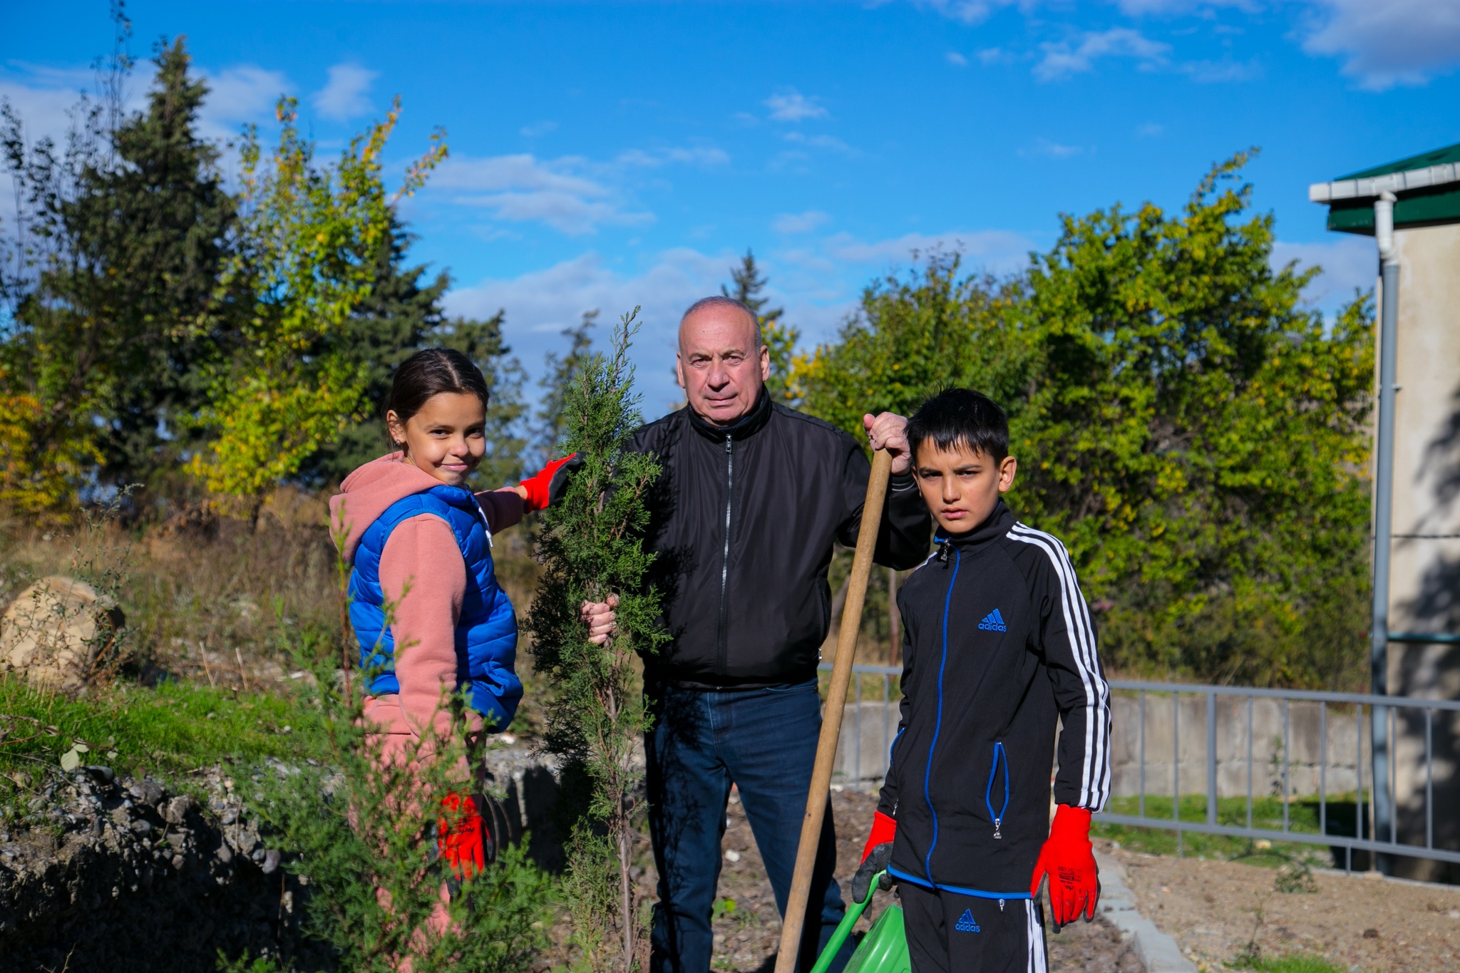
[[[267,159],[257,128],[244,137],[239,244],[219,290],[245,284],[248,312],[241,315],[239,353],[210,375],[197,416],[209,445],[191,468],[210,490],[254,512],[266,490],[362,417],[369,371],[330,338],[349,328],[369,298],[393,244],[394,200],[381,179],[381,153],[399,115],[397,99],[384,121],[352,139],[327,168],[315,165],[291,98],[279,102],[279,143]],[[419,188],[444,156],[437,131],[394,198]],[[209,315],[201,327],[212,321]]]

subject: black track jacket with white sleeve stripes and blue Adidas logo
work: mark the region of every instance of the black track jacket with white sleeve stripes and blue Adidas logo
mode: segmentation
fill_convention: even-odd
[[[1110,795],[1110,687],[1064,546],[1000,500],[943,537],[898,589],[902,718],[879,808],[898,823],[892,877],[1028,899],[1054,799]],[[1063,719],[1058,754],[1056,721]]]

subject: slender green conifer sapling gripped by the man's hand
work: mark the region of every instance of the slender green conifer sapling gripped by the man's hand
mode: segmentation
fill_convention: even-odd
[[[637,314],[615,330],[612,352],[587,357],[566,388],[558,445],[578,452],[584,465],[566,496],[543,513],[537,556],[545,573],[526,626],[534,668],[553,689],[548,748],[564,759],[569,778],[588,783],[572,808],[577,824],[564,881],[575,942],[591,969],[622,973],[639,969],[647,948],[647,910],[629,874],[642,811],[634,744],[648,725],[634,654],[653,652],[664,639],[658,595],[642,586],[653,556],[639,543],[648,521],[645,493],[658,465],[625,452],[639,425],[628,360]],[[619,597],[618,630],[594,645],[578,605],[610,592]]]

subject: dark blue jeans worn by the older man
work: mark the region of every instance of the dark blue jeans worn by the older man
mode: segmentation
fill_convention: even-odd
[[[816,761],[821,699],[815,680],[737,691],[650,683],[645,691],[654,716],[644,751],[650,836],[658,867],[650,970],[705,973],[714,945],[710,913],[720,881],[720,839],[731,783],[740,789],[775,906],[785,915]],[[835,867],[837,839],[828,807],[812,872],[797,964],[802,970],[810,970],[845,915],[832,877]],[[848,941],[834,973],[840,973],[851,950]]]

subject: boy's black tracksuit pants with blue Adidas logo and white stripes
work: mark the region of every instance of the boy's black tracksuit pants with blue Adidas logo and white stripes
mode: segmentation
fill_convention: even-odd
[[[912,973],[1047,973],[1044,910],[997,899],[898,885]]]

